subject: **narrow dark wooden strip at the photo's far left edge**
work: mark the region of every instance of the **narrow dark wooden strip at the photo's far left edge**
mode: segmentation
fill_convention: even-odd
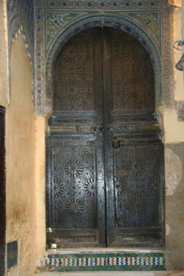
[[[5,108],[0,106],[0,275],[5,273],[6,241],[6,173],[5,173]]]

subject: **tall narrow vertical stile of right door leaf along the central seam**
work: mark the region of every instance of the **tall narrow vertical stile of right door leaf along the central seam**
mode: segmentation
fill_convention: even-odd
[[[105,194],[107,218],[107,245],[114,240],[115,204],[113,187],[113,151],[112,151],[112,47],[111,32],[103,30],[103,112],[104,112],[104,154],[105,154]]]

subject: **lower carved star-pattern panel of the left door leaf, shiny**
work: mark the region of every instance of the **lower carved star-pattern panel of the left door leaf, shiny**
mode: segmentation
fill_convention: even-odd
[[[52,148],[54,228],[95,228],[94,148]]]

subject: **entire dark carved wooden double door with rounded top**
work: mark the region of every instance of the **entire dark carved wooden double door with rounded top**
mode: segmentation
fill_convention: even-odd
[[[154,72],[130,34],[93,28],[61,49],[49,119],[48,245],[163,246]]]

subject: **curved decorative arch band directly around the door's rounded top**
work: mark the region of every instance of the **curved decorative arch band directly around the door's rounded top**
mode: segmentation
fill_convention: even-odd
[[[152,61],[152,66],[154,69],[154,79],[155,79],[155,104],[156,109],[159,109],[163,104],[163,86],[162,86],[162,62],[161,55],[159,53],[159,45],[152,35],[143,28],[139,26],[138,23],[130,20],[130,18],[122,16],[115,16],[114,14],[90,14],[84,16],[72,24],[65,26],[57,34],[52,46],[48,50],[48,54],[45,59],[45,112],[48,113],[52,111],[52,76],[54,70],[54,63],[57,59],[61,48],[64,44],[73,37],[75,34],[93,27],[112,27],[118,28],[125,32],[130,33],[132,36],[136,37],[141,44],[144,46],[145,50],[148,52],[150,59]]]

